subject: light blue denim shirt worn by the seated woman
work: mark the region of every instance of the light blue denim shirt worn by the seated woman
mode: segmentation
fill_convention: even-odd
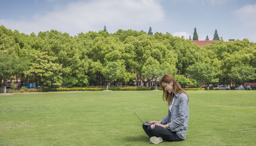
[[[188,131],[188,96],[185,93],[176,93],[172,110],[161,120],[162,124],[169,124],[167,129],[176,132],[179,138],[185,139]]]

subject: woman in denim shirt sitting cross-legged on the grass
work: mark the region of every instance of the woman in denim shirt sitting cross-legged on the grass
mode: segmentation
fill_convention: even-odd
[[[175,78],[169,74],[159,82],[163,89],[163,100],[168,102],[168,115],[160,121],[150,121],[150,126],[142,125],[150,142],[157,144],[166,141],[182,141],[188,130],[188,95]]]

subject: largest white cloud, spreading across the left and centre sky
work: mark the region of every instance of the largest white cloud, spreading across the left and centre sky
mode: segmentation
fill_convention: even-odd
[[[56,8],[45,15],[34,15],[33,20],[0,20],[0,25],[26,34],[58,30],[76,35],[80,32],[103,30],[113,32],[121,26],[129,28],[163,21],[165,13],[157,0],[90,0],[77,1]],[[110,32],[110,31],[109,31]]]

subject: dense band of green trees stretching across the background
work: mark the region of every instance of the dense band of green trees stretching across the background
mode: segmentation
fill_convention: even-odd
[[[200,47],[168,32],[57,30],[37,35],[0,26],[1,86],[20,78],[37,86],[141,86],[171,74],[182,87],[256,78],[256,44],[248,39]],[[135,81],[135,82],[134,82]]]

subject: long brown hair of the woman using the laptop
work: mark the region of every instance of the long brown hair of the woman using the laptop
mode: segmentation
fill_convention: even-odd
[[[168,102],[168,106],[170,106],[170,104],[172,103],[173,97],[171,97],[171,95],[173,95],[173,94],[169,93],[165,90],[165,87],[163,87],[162,82],[165,82],[165,83],[172,82],[173,83],[173,85],[172,85],[173,90],[175,90],[177,93],[185,93],[188,96],[188,94],[185,92],[184,89],[181,88],[180,84],[175,80],[175,78],[173,76],[171,76],[170,74],[165,74],[162,77],[159,84],[160,84],[161,88],[163,89],[163,100]]]

